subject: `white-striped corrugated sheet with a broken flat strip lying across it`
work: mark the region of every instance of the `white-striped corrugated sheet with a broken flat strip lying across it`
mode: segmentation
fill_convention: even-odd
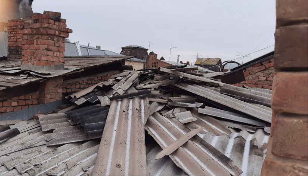
[[[163,149],[190,131],[175,118],[168,119],[158,113],[148,118],[145,128]],[[169,157],[188,175],[241,174],[229,158],[198,136],[191,138]]]

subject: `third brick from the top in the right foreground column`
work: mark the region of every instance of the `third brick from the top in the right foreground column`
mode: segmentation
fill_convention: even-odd
[[[277,72],[273,85],[272,109],[308,114],[308,72]]]

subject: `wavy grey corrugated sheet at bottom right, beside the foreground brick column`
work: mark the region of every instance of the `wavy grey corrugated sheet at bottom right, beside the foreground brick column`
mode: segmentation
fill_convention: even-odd
[[[243,171],[241,176],[260,175],[270,135],[262,129],[254,134],[244,130],[232,131],[229,136],[211,133],[199,136],[233,160]]]

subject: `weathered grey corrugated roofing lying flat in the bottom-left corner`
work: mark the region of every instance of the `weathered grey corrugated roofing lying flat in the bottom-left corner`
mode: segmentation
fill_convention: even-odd
[[[82,175],[95,164],[97,141],[47,146],[44,138],[52,133],[43,132],[39,121],[22,121],[10,128],[21,133],[0,144],[0,175]]]

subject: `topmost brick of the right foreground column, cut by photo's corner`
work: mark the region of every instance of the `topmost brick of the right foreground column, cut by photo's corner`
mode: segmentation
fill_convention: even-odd
[[[288,25],[292,22],[308,20],[308,12],[304,7],[308,6],[306,0],[276,1],[276,27]]]

